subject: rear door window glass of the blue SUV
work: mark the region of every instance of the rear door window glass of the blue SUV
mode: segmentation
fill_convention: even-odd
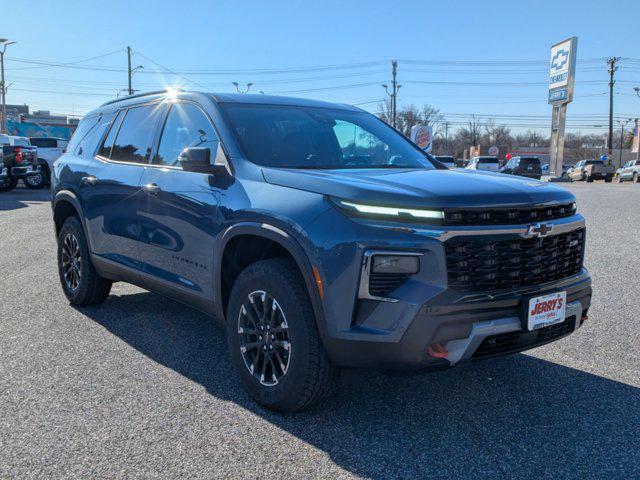
[[[160,111],[158,105],[130,108],[118,129],[109,158],[119,162],[147,163]]]

